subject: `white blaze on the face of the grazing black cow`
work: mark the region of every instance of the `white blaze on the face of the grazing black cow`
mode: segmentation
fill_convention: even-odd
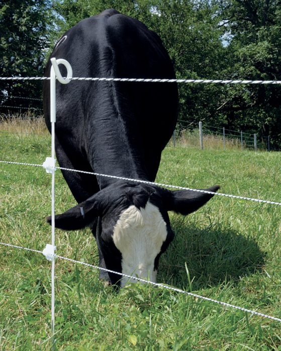
[[[122,273],[156,283],[154,260],[167,238],[166,223],[159,209],[147,202],[124,210],[113,230],[113,241],[122,254]],[[121,287],[133,279],[123,277]],[[135,281],[134,281],[135,282]]]

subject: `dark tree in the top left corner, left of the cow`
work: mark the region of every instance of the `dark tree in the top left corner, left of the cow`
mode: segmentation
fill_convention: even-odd
[[[44,53],[49,45],[49,19],[50,4],[47,0],[0,0],[1,76],[43,75]],[[40,81],[1,81],[0,103],[28,107],[32,100],[26,98],[41,98],[41,85]],[[15,99],[13,96],[22,98]],[[33,106],[34,103],[32,101]],[[42,108],[41,103],[37,106]],[[1,108],[1,112],[5,110],[7,108]]]

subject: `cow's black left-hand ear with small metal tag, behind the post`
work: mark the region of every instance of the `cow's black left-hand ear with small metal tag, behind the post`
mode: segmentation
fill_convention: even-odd
[[[81,229],[101,214],[102,205],[99,196],[93,195],[66,212],[55,215],[55,227],[64,230]],[[51,216],[46,219],[51,224]]]

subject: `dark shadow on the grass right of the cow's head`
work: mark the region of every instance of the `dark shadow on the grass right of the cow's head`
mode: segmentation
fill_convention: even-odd
[[[200,229],[186,223],[171,223],[175,238],[160,259],[158,282],[192,290],[235,282],[261,270],[266,253],[252,238],[234,230],[210,226]]]

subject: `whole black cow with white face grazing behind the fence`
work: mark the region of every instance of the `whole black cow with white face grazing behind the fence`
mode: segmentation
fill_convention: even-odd
[[[159,37],[115,10],[68,30],[51,57],[69,61],[73,76],[175,77]],[[49,61],[47,76],[50,66]],[[154,181],[161,151],[176,124],[175,83],[72,81],[58,83],[56,94],[56,156],[61,167]],[[50,130],[49,81],[43,95]],[[100,267],[154,282],[159,257],[174,236],[167,211],[188,214],[213,196],[62,173],[79,204],[56,215],[55,226],[66,230],[89,226],[97,240]],[[102,273],[101,278],[120,286],[127,282],[111,273]]]

